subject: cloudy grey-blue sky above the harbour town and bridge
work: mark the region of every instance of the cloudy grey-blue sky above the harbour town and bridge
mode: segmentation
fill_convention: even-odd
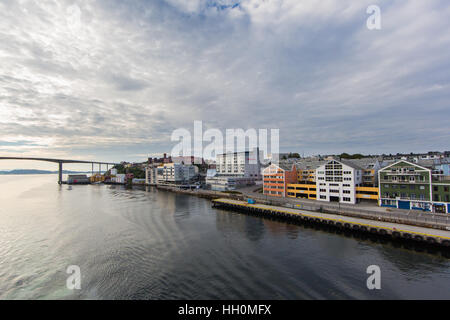
[[[0,156],[144,161],[196,120],[280,129],[305,155],[449,150],[448,17],[447,0],[1,0]],[[0,162],[18,167],[54,165]]]

